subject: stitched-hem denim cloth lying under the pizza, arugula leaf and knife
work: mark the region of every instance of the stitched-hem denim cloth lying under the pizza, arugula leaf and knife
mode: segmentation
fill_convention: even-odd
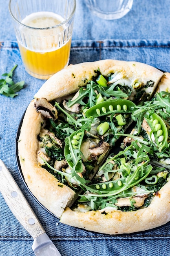
[[[96,61],[103,58],[136,60],[148,63],[170,72],[168,53],[170,42],[166,40],[73,40],[70,63]],[[7,165],[20,186],[26,199],[40,219],[46,233],[64,256],[105,256],[105,255],[170,255],[170,227],[166,225],[154,231],[141,234],[109,236],[95,234],[59,223],[59,220],[42,208],[27,191],[18,172],[15,160],[15,137],[24,110],[35,92],[44,81],[27,74],[20,59],[18,44],[4,41],[0,48],[0,74],[5,73],[17,63],[14,72],[15,81],[25,81],[22,89],[14,99],[0,95],[0,158]],[[33,240],[13,217],[0,195],[0,256],[34,255],[31,249]],[[153,250],[153,248],[155,248]],[[166,248],[166,252],[164,251]]]

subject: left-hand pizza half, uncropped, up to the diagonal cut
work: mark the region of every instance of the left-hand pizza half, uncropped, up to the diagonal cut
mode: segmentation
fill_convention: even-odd
[[[143,63],[104,60],[70,65],[42,85],[24,115],[18,154],[44,207],[60,218],[86,190],[132,108],[150,99],[162,76]]]

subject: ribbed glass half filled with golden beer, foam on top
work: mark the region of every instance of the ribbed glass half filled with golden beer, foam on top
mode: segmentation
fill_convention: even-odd
[[[38,79],[68,65],[76,0],[10,0],[9,12],[26,71]]]

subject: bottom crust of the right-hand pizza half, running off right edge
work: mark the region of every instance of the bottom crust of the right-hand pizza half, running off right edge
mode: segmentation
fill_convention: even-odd
[[[86,213],[66,208],[60,222],[103,234],[129,234],[149,230],[170,221],[170,180],[149,207],[137,211],[102,209]]]

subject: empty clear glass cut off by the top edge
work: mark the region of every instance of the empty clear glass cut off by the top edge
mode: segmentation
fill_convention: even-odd
[[[86,4],[97,17],[115,20],[130,11],[133,0],[86,0]]]

